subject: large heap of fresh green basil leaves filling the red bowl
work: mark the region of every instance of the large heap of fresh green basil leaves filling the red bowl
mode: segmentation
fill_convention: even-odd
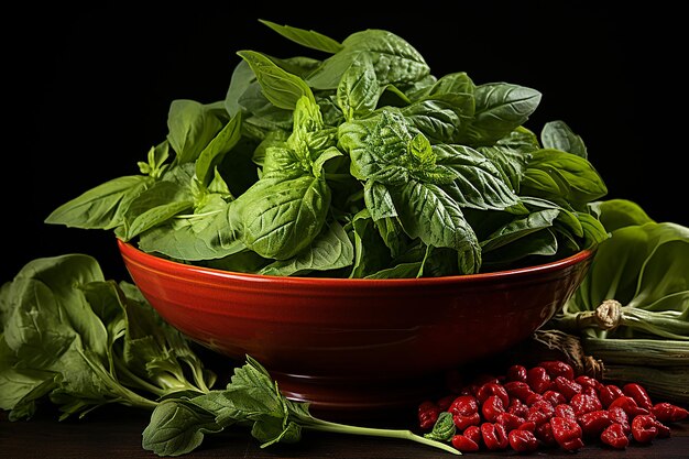
[[[415,277],[546,262],[606,233],[606,188],[562,121],[524,127],[534,89],[440,77],[383,30],[337,42],[264,24],[327,55],[240,51],[223,100],[174,100],[140,175],[48,223],[111,229],[169,259],[270,275]]]

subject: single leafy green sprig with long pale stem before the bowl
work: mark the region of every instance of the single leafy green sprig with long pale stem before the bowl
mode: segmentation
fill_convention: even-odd
[[[353,426],[314,417],[307,403],[293,402],[281,394],[277,383],[250,356],[244,365],[234,369],[226,389],[162,401],[143,431],[142,446],[158,456],[181,456],[198,448],[206,435],[231,426],[250,428],[261,448],[297,442],[304,430],[320,430],[398,438],[460,453],[446,442],[406,429]]]

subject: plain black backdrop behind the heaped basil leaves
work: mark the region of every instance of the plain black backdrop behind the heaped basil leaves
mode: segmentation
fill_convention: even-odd
[[[172,100],[225,98],[237,51],[325,57],[258,19],[338,41],[385,29],[415,46],[436,76],[463,70],[477,84],[537,89],[543,99],[526,127],[539,132],[565,120],[583,138],[606,198],[632,199],[658,221],[689,226],[686,25],[675,2],[416,2],[380,13],[370,2],[181,4],[3,13],[9,258],[0,283],[32,259],[69,252],[91,254],[108,278],[124,278],[112,232],[44,218],[96,185],[138,174],[136,162],[165,138]]]

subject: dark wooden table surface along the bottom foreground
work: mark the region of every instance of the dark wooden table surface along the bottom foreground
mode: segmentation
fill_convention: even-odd
[[[141,447],[141,434],[149,423],[149,413],[125,407],[100,408],[84,419],[63,422],[51,414],[39,414],[31,420],[9,422],[0,414],[0,458],[7,459],[138,459],[156,458]],[[514,451],[500,453],[471,452],[464,457],[576,457],[578,459],[687,459],[689,458],[689,423],[672,426],[670,438],[655,439],[647,446],[630,445],[619,451],[589,444],[575,456],[562,449],[539,449],[532,455]],[[395,458],[439,459],[452,455],[442,450],[390,438],[372,438],[342,434],[305,431],[302,441],[273,445],[261,449],[243,428],[228,429],[208,436],[195,451],[183,456],[201,458]]]

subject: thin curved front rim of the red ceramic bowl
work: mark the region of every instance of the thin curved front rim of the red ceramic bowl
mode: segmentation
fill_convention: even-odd
[[[241,273],[234,271],[225,271],[216,267],[198,266],[195,264],[186,264],[175,260],[164,259],[152,253],[144,252],[133,243],[117,238],[117,244],[120,254],[124,259],[138,264],[147,265],[156,271],[171,272],[176,271],[188,273],[194,276],[212,276],[223,280],[243,281],[243,282],[273,282],[293,285],[315,285],[322,286],[326,284],[337,284],[340,286],[352,285],[444,285],[457,283],[481,283],[495,282],[513,277],[533,276],[535,274],[546,274],[565,270],[569,266],[578,265],[587,260],[592,260],[597,250],[595,247],[582,249],[571,255],[555,260],[548,263],[539,263],[532,266],[515,267],[512,270],[493,271],[478,274],[460,274],[440,277],[404,277],[404,278],[350,278],[350,277],[307,277],[307,276],[277,276],[266,274]]]

